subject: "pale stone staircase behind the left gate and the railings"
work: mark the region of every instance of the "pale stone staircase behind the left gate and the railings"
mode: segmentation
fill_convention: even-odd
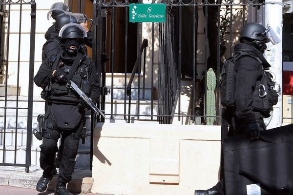
[[[131,123],[158,123],[150,121],[150,87],[146,87],[145,100],[140,100],[140,105],[138,106],[137,100],[138,89],[136,87],[132,90],[132,100],[130,114],[146,115],[140,117],[131,116]],[[105,122],[115,122],[115,123],[126,123],[128,116],[114,116],[111,114],[111,96],[113,94],[113,112],[112,114],[124,114],[124,86],[115,86],[113,92],[106,96],[105,101],[105,111],[106,118]],[[142,90],[140,90],[142,97]],[[6,109],[6,120],[4,121],[4,109],[0,109],[0,163],[20,163],[25,164],[26,158],[26,139],[27,139],[27,97],[19,96],[18,105],[16,102],[16,96],[7,97],[6,107],[19,109]],[[126,99],[126,114],[128,115],[128,97]],[[34,97],[33,103],[33,119],[32,127],[33,129],[38,129],[37,117],[39,114],[44,113],[44,100],[41,97]],[[5,107],[5,98],[0,97],[0,107]],[[18,110],[18,112],[17,112]],[[153,115],[157,114],[157,101],[153,101]],[[17,116],[17,117],[16,117]],[[89,169],[90,167],[90,115],[86,115],[86,127],[87,127],[87,138],[85,144],[80,141],[78,156],[76,159],[75,167],[78,169]],[[156,117],[153,117],[156,119]],[[5,123],[5,129],[4,129]],[[5,131],[5,134],[4,134]],[[40,158],[40,145],[42,140],[38,140],[32,135],[31,142],[31,166],[39,165]],[[4,161],[3,161],[3,149],[5,149]],[[16,156],[16,158],[15,158]]]

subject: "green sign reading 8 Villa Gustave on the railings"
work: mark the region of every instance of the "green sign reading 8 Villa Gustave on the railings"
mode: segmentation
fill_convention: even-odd
[[[129,22],[165,22],[166,4],[129,5]]]

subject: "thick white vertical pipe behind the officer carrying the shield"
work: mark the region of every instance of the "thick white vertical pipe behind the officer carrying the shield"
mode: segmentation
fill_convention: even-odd
[[[265,58],[272,65],[270,71],[275,76],[275,82],[282,88],[283,75],[283,0],[266,0],[265,25],[270,25],[281,42],[276,45],[268,43],[270,51],[265,52]],[[273,107],[272,117],[265,120],[267,129],[282,125],[282,90],[279,92],[278,103]]]

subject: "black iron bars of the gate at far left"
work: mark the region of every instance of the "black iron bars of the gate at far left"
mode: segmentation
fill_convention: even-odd
[[[26,9],[30,5],[31,14],[30,14],[30,29],[29,32],[23,32],[22,28],[24,27],[22,24],[23,20],[28,20],[27,18],[22,17],[23,7],[26,6]],[[12,13],[11,7],[13,6],[14,13]],[[4,97],[0,97],[0,113],[1,115],[1,127],[0,127],[0,136],[1,136],[1,144],[0,144],[0,152],[1,152],[1,160],[0,165],[4,166],[23,166],[25,167],[25,171],[29,171],[29,166],[31,165],[31,141],[32,141],[32,117],[33,117],[33,77],[34,77],[34,56],[35,56],[35,30],[36,30],[36,2],[35,0],[0,0],[0,8],[1,12],[4,13],[0,15],[1,18],[1,27],[0,27],[0,45],[5,45],[5,50],[1,50],[1,59],[0,65],[1,70],[5,71],[2,75],[1,79],[2,85],[5,87]],[[16,14],[16,11],[19,12]],[[12,17],[16,15],[19,16],[18,22],[12,21]],[[4,28],[6,25],[6,28]],[[4,30],[5,29],[5,30]],[[23,34],[30,34],[30,44],[29,44],[29,59],[25,59],[23,56],[23,52],[25,50],[21,50],[21,46],[23,46],[22,38]],[[3,36],[5,35],[5,36]],[[13,36],[13,38],[11,38]],[[10,39],[11,38],[11,39]],[[18,44],[15,44],[15,41]],[[10,50],[10,48],[12,48]],[[26,50],[27,51],[27,50]],[[5,54],[5,55],[3,55]],[[21,67],[25,66],[25,62],[27,62],[27,66],[29,66],[28,71],[24,72]],[[23,64],[24,63],[24,64]],[[16,69],[16,82],[10,81],[9,78],[9,67],[14,67]],[[26,92],[27,96],[25,98],[20,99],[21,96],[21,78],[22,75],[28,76],[28,91]],[[8,87],[9,82],[13,83],[16,86],[16,94],[9,97]],[[26,106],[23,105],[24,102]],[[27,120],[26,127],[21,127],[21,122],[19,119],[20,112],[26,110],[25,118]],[[14,112],[13,112],[14,111]],[[8,121],[8,114],[14,113],[12,117],[15,118],[15,123]],[[11,119],[11,118],[10,118]],[[13,119],[12,119],[13,121]],[[24,128],[24,129],[23,129]],[[22,137],[22,133],[20,130],[24,130],[26,135],[25,141],[25,162],[22,162],[20,158],[23,159],[23,156],[18,156],[19,147],[22,143],[18,143],[18,138]],[[9,134],[14,134],[9,135]],[[8,135],[11,143],[8,142]],[[10,156],[9,156],[10,154]],[[13,154],[13,155],[11,155]],[[21,161],[21,162],[20,162]]]

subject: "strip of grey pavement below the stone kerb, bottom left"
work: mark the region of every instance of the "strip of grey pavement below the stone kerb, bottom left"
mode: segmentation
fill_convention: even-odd
[[[34,189],[18,188],[18,187],[13,187],[13,186],[0,186],[0,194],[1,195],[54,195],[54,192],[53,191],[45,191],[45,192],[39,193]],[[97,195],[97,194],[73,193],[73,195]]]

